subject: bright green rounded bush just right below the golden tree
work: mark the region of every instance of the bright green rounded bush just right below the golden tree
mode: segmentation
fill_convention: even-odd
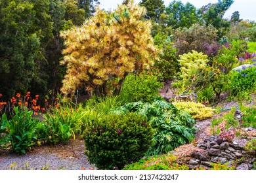
[[[121,88],[124,103],[144,101],[151,102],[159,96],[158,89],[163,84],[154,75],[128,75]]]

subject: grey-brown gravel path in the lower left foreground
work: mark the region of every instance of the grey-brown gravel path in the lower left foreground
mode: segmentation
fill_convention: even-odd
[[[38,146],[25,155],[17,156],[10,150],[0,150],[0,169],[11,169],[11,164],[16,162],[14,169],[42,169],[49,163],[50,170],[66,169],[94,169],[84,155],[83,139],[77,138],[66,145]]]

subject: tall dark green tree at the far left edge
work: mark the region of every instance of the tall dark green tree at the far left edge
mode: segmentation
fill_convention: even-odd
[[[0,17],[0,93],[10,98],[25,93],[35,77],[44,30],[34,26],[39,18],[28,1],[1,0]]]

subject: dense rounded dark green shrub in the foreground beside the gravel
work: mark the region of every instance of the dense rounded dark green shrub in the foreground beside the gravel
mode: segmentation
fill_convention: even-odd
[[[139,114],[108,114],[91,122],[83,139],[90,163],[98,169],[122,169],[152,146],[153,130]]]

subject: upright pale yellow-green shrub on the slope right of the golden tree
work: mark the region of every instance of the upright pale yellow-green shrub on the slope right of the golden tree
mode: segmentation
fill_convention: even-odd
[[[178,60],[181,65],[181,78],[188,80],[192,75],[196,75],[200,67],[205,67],[208,61],[207,55],[202,52],[198,53],[195,50],[188,54],[183,54]]]

